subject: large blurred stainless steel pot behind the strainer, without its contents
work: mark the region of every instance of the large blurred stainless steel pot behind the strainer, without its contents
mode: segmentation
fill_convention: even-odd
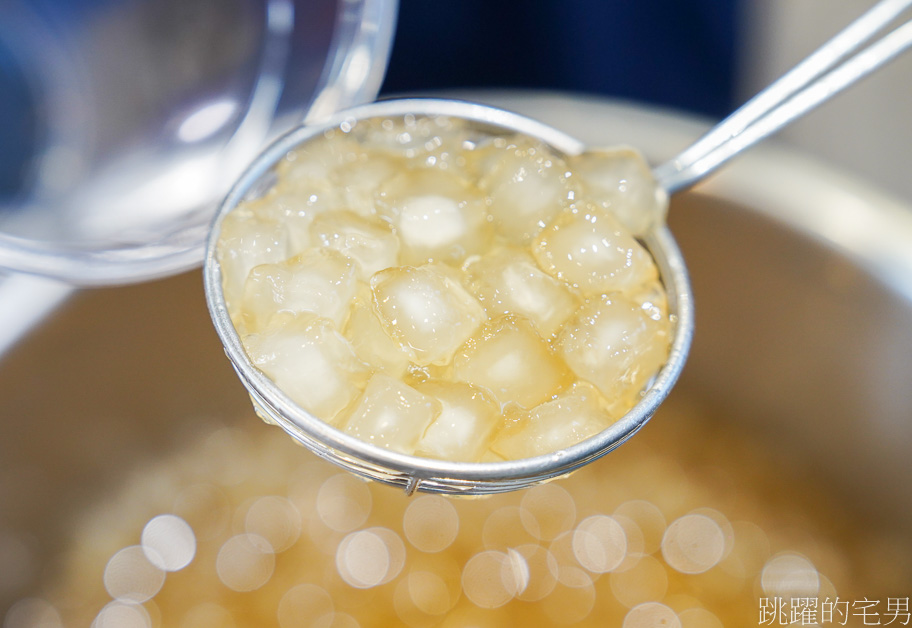
[[[596,100],[463,96],[655,161],[704,126]],[[822,474],[847,513],[908,537],[912,208],[764,147],[676,197],[670,224],[697,315],[672,396],[743,423],[757,451]],[[124,476],[200,420],[256,420],[197,273],[77,295],[0,362],[0,417],[0,617],[58,575],[73,521]],[[636,438],[662,429],[660,412]]]

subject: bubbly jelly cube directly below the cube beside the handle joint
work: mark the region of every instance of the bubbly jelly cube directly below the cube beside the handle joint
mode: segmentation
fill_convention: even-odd
[[[635,290],[658,276],[649,252],[614,216],[589,203],[561,213],[532,253],[549,275],[587,294]]]

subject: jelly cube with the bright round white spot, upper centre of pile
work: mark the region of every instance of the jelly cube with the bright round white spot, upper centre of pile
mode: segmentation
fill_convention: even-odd
[[[458,263],[490,240],[481,193],[438,170],[400,173],[381,186],[377,211],[396,228],[403,264]]]

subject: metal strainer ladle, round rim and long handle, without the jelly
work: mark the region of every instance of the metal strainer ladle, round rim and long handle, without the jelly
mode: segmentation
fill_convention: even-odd
[[[761,92],[678,157],[657,167],[661,186],[673,193],[706,176],[745,148],[767,137],[830,96],[880,67],[912,45],[912,23],[906,23],[845,63],[832,69],[906,9],[912,0],[883,0],[817,52]],[[521,460],[467,463],[422,458],[382,449],[345,434],[296,405],[247,357],[229,317],[222,293],[216,244],[224,216],[252,190],[269,185],[273,167],[292,149],[322,137],[343,122],[406,114],[462,118],[496,132],[522,133],[565,154],[578,154],[583,143],[529,118],[483,105],[454,101],[407,99],[383,101],[343,112],[318,125],[298,128],[267,149],[232,189],[210,234],[205,282],[209,309],[226,353],[248,389],[259,414],[287,431],[317,455],[356,474],[415,490],[481,495],[506,492],[563,475],[613,450],[636,433],[674,385],[693,336],[693,308],[687,269],[664,226],[643,238],[664,283],[672,316],[669,358],[643,392],[640,401],[601,433],[572,447]]]

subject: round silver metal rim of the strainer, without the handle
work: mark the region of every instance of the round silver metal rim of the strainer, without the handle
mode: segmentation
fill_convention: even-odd
[[[693,337],[692,293],[686,266],[680,250],[667,227],[644,238],[659,264],[670,311],[673,313],[673,340],[668,361],[656,375],[643,398],[626,415],[609,428],[580,443],[550,454],[504,462],[453,462],[402,454],[371,445],[330,426],[295,404],[262,371],[257,369],[241,344],[240,336],[228,315],[222,293],[221,268],[216,256],[221,222],[248,191],[271,171],[291,149],[337,127],[346,120],[366,117],[453,116],[480,125],[517,131],[537,137],[566,154],[581,152],[579,140],[525,116],[503,109],[454,100],[425,98],[380,101],[349,109],[318,125],[299,127],[279,138],[257,157],[238,179],[220,205],[206,243],[204,265],[205,294],[216,331],[225,352],[255,404],[270,415],[299,442],[318,455],[349,470],[382,482],[404,485],[408,492],[416,488],[457,494],[484,494],[514,490],[552,477],[563,475],[595,460],[616,448],[642,428],[677,381],[686,361]],[[664,253],[664,254],[662,254]],[[344,456],[379,467],[385,474],[371,473],[366,468],[353,469]]]

